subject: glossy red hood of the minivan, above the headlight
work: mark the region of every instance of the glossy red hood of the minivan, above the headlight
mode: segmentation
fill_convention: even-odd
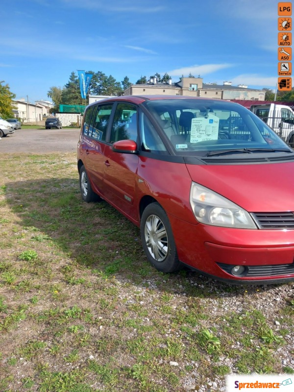
[[[294,211],[294,162],[186,166],[193,181],[249,212]]]

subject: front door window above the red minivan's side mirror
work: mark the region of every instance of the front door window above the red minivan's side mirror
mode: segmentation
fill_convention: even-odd
[[[137,106],[119,102],[112,123],[110,143],[125,139],[138,142]]]

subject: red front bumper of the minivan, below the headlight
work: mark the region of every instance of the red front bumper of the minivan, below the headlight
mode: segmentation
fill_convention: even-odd
[[[237,284],[294,281],[294,230],[235,229],[169,219],[179,259],[195,270]],[[234,276],[230,266],[244,266],[248,273]]]

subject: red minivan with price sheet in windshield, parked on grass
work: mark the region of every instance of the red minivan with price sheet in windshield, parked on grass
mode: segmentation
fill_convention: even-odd
[[[147,259],[239,283],[294,280],[294,150],[228,101],[131,96],[86,107],[82,199],[140,227]],[[95,210],[95,214],[97,211]]]

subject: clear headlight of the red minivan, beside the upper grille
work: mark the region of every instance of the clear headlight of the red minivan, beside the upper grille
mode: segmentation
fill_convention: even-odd
[[[191,185],[190,204],[197,221],[201,223],[257,229],[247,211],[196,182]]]

